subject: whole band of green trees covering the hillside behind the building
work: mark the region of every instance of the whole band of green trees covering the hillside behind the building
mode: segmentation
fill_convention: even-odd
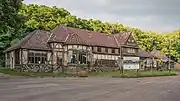
[[[0,1],[0,50],[21,40],[26,33],[35,29],[50,31],[58,25],[63,25],[106,34],[131,31],[140,48],[146,51],[157,49],[167,54],[170,47],[170,54],[179,57],[180,60],[180,30],[166,34],[145,32],[118,23],[110,24],[96,19],[81,19],[71,15],[64,8],[34,4],[21,5],[21,0]]]

